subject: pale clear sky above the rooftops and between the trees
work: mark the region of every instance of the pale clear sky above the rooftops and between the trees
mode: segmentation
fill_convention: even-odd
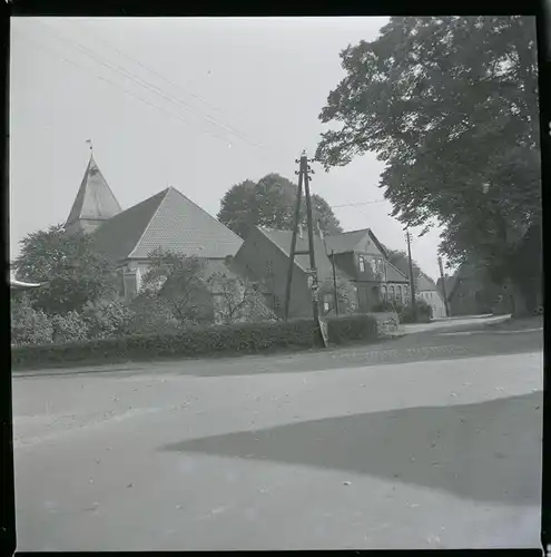
[[[295,179],[318,115],[344,78],[340,52],[387,18],[13,18],[10,69],[10,256],[27,234],[63,223],[94,157],[122,208],[174,186],[216,216],[234,184]],[[370,227],[405,250],[402,224],[366,154],[312,192],[345,231]],[[376,203],[373,203],[376,202]],[[344,206],[343,206],[344,205]],[[412,242],[437,278],[440,229]]]

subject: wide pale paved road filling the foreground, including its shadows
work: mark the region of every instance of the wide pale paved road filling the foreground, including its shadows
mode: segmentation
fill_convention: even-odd
[[[17,374],[18,550],[537,547],[542,342]]]

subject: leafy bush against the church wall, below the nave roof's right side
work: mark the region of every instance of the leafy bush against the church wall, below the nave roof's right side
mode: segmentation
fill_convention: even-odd
[[[144,276],[146,305],[157,300],[158,307],[177,320],[179,325],[213,322],[213,297],[205,277],[205,260],[170,250],[157,248],[149,255]]]

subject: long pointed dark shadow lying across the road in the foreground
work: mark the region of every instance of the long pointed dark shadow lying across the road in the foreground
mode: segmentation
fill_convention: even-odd
[[[539,505],[542,393],[344,416],[164,447],[348,470],[456,496]]]

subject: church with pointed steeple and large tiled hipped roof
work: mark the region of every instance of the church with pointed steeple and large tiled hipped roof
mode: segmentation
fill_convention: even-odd
[[[120,273],[120,296],[134,297],[156,248],[224,262],[243,240],[174,187],[121,211],[95,159],[90,162],[66,223],[91,234]]]

